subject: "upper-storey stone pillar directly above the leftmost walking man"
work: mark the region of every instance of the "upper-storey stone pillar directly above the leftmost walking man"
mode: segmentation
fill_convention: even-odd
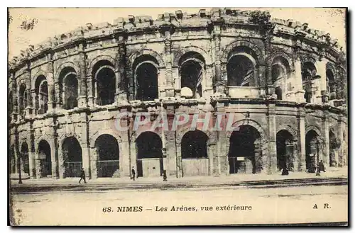
[[[77,98],[77,106],[79,108],[87,107],[87,66],[86,66],[86,54],[84,51],[84,45],[81,43],[79,45],[79,67],[80,67],[80,91],[79,97]],[[85,173],[86,174],[86,173]]]

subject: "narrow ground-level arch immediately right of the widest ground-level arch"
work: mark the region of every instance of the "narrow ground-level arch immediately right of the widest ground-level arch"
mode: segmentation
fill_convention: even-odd
[[[293,171],[293,136],[287,130],[280,130],[276,134],[276,152],[278,158],[278,171],[287,169]]]

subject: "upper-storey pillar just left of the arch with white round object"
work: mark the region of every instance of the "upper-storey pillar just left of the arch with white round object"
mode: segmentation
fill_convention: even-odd
[[[170,28],[165,30],[165,42],[164,42],[164,51],[165,51],[165,96],[173,97],[174,96],[174,83],[173,83],[173,62],[171,56],[171,40],[170,40]]]

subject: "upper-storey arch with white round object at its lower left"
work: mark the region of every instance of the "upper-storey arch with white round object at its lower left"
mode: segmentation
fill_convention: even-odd
[[[202,97],[202,78],[204,73],[204,58],[197,52],[187,52],[179,60],[181,88],[190,89],[185,98]],[[190,92],[189,91],[189,92]]]

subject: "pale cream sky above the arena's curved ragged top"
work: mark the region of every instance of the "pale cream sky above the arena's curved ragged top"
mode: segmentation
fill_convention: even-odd
[[[202,7],[203,8],[203,7]],[[210,8],[205,8],[209,11]],[[310,28],[324,30],[337,38],[346,51],[346,18],[344,8],[241,8],[241,10],[270,11],[272,18],[288,18],[308,23]],[[28,45],[36,45],[48,37],[67,33],[86,23],[113,23],[119,17],[152,16],[182,10],[197,13],[200,8],[9,8],[9,57],[17,56]],[[21,22],[35,19],[32,30],[21,29]]]

